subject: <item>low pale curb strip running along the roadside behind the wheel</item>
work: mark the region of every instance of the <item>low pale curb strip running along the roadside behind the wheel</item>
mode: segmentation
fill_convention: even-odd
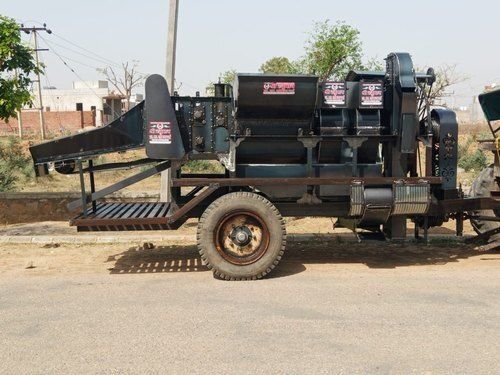
[[[429,235],[430,239],[446,238],[445,235]],[[465,238],[465,237],[464,237]],[[338,241],[340,243],[356,243],[357,238],[351,233],[338,234],[288,234],[287,241],[289,242],[311,242],[311,241]],[[366,242],[368,242],[367,240]],[[177,243],[177,242],[192,242],[196,243],[195,234],[169,234],[169,235],[77,235],[77,236],[0,236],[0,245],[16,244],[16,245],[111,245],[111,244],[143,244],[151,243]],[[365,241],[363,241],[365,242]],[[457,243],[462,242],[457,239]]]

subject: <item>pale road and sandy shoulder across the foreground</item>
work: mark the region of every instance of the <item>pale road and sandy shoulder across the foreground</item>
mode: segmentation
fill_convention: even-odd
[[[500,254],[375,250],[230,283],[192,246],[0,248],[0,373],[500,373]]]

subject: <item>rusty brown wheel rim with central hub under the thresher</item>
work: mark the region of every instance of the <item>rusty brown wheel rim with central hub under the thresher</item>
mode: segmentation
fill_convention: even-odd
[[[257,262],[269,247],[266,223],[250,211],[234,211],[225,215],[217,223],[214,235],[217,252],[238,266]]]

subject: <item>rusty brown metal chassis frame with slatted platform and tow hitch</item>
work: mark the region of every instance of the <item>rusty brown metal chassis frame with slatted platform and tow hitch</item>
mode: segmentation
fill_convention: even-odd
[[[148,160],[148,162],[150,162]],[[395,178],[395,177],[348,177],[348,178],[321,178],[321,177],[301,177],[301,178],[231,178],[220,174],[185,174],[173,179],[172,188],[180,189],[182,187],[192,187],[189,193],[179,197],[178,202],[168,206],[168,209],[163,209],[161,215],[148,217],[148,212],[154,213],[157,208],[151,203],[142,204],[123,204],[124,212],[128,215],[115,215],[118,207],[113,207],[110,204],[98,204],[97,201],[105,196],[121,190],[127,186],[133,185],[155,174],[161,173],[170,167],[170,162],[163,162],[154,167],[140,172],[134,176],[121,180],[102,190],[96,191],[94,172],[103,170],[112,170],[116,167],[122,168],[127,164],[127,167],[133,167],[130,163],[118,163],[114,165],[94,166],[91,160],[88,161],[88,167],[83,168],[83,161],[78,160],[78,173],[80,175],[80,184],[82,198],[71,202],[68,205],[70,209],[82,207],[82,214],[71,221],[71,225],[77,226],[79,230],[153,230],[153,229],[176,229],[188,217],[199,217],[208,203],[208,199],[219,189],[231,191],[232,188],[255,188],[259,186],[273,185],[295,185],[295,186],[322,186],[322,185],[355,185],[362,184],[363,186],[392,186],[395,183],[406,184],[422,184],[437,186],[441,183],[440,177],[411,177],[411,178]],[[134,166],[142,165],[143,163],[132,163]],[[85,184],[85,173],[89,174],[90,194],[87,194]],[[89,212],[88,205],[91,204]],[[162,203],[158,203],[162,204]],[[180,206],[177,206],[180,204]],[[350,202],[274,202],[278,210],[283,216],[322,216],[322,217],[337,217],[345,216],[349,212]],[[484,209],[500,209],[500,202],[490,198],[458,198],[440,200],[431,203],[428,212],[425,215],[413,215],[422,218],[422,228],[424,231],[424,240],[428,240],[429,217],[452,215],[457,219],[457,234],[460,230],[459,219],[462,221],[465,218],[486,219],[483,217],[469,217],[467,212]],[[113,215],[111,215],[113,214]],[[117,216],[117,217],[115,217]],[[410,215],[411,217],[412,215]],[[488,218],[492,221],[500,221],[497,218]],[[415,237],[419,237],[418,225],[415,229]]]

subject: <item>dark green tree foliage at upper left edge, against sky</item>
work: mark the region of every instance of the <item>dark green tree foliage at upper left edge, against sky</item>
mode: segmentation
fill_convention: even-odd
[[[0,15],[0,119],[8,121],[32,103],[29,75],[37,72],[33,51],[21,41],[19,25]]]

